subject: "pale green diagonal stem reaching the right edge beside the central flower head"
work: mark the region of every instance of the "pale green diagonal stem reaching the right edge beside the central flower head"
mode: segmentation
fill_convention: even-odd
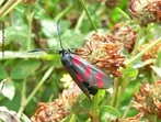
[[[135,60],[140,58],[146,52],[148,52],[150,48],[152,48],[156,44],[161,42],[161,37],[159,37],[157,41],[153,41],[150,45],[148,45],[145,49],[142,49],[139,54],[137,54],[135,57],[133,57],[126,65],[131,65]]]

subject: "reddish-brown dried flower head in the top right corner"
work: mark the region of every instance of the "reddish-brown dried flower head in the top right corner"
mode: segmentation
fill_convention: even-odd
[[[130,0],[129,12],[141,26],[161,21],[161,0]]]

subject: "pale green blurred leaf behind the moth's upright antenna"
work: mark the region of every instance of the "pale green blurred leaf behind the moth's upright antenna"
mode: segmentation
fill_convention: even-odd
[[[57,25],[56,22],[51,20],[43,20],[42,21],[43,33],[48,37],[48,46],[50,48],[58,49],[60,42],[58,38]],[[80,47],[83,43],[84,36],[80,31],[69,30],[70,26],[69,21],[60,21],[60,36],[62,40],[64,48],[74,48]]]

